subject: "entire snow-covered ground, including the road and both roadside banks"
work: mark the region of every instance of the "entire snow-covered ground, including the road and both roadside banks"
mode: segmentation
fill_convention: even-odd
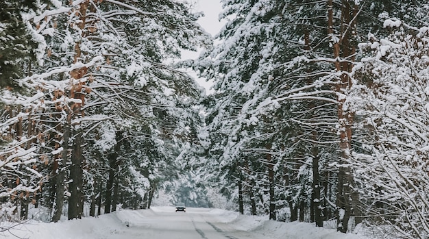
[[[34,209],[39,219],[49,211]],[[62,218],[59,223],[28,221],[0,230],[0,238],[29,239],[365,239],[341,234],[336,229],[317,228],[310,223],[281,223],[267,216],[243,216],[219,209],[189,208],[186,213],[174,207],[151,210],[119,210],[79,220]],[[32,210],[30,210],[32,212]],[[0,229],[13,223],[1,222]],[[129,227],[127,227],[129,225]],[[369,239],[369,238],[366,238]]]

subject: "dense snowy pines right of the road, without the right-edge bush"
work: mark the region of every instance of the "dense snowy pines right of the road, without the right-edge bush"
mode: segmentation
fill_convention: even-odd
[[[361,92],[355,96],[351,90],[360,77],[366,84],[376,71],[359,62],[369,51],[358,52],[358,43],[373,34],[387,36],[396,25],[418,31],[407,24],[427,25],[419,21],[426,19],[421,10],[427,6],[415,1],[223,4],[221,17],[230,20],[218,35],[221,43],[195,65],[201,75],[215,79],[216,92],[205,101],[212,160],[206,172],[215,172],[210,181],[217,181],[241,212],[244,206],[254,213],[258,204],[272,219],[323,226],[336,218],[339,231],[347,231],[350,218],[360,223],[373,202],[360,190],[366,184],[354,155],[371,150],[361,138],[366,127],[358,127],[363,118],[355,115],[361,102],[351,100]],[[353,81],[358,62],[365,74],[354,75]],[[255,192],[255,180],[265,182],[264,189]]]

